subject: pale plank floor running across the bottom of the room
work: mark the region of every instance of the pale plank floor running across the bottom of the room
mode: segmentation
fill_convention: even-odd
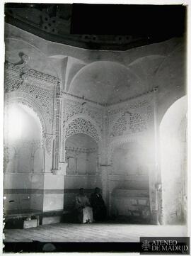
[[[139,242],[140,236],[187,236],[186,226],[56,223],[4,230],[6,242]]]

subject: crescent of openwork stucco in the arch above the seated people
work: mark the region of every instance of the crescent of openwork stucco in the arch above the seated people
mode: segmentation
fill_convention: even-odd
[[[65,139],[76,133],[85,133],[91,136],[96,142],[100,140],[98,132],[93,124],[83,118],[76,118],[66,127]]]

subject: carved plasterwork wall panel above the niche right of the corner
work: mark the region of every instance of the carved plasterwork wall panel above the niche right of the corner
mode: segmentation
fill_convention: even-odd
[[[154,135],[153,92],[107,108],[108,159],[120,143],[139,141],[144,144]],[[148,146],[148,145],[147,145]]]

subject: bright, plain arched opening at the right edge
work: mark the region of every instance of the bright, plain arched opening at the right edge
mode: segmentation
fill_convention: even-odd
[[[160,124],[162,213],[164,224],[186,221],[187,98],[168,108]]]

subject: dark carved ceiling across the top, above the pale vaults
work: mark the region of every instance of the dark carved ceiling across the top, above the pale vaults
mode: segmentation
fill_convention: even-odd
[[[185,6],[18,4],[5,6],[6,22],[57,43],[127,50],[185,32]]]

